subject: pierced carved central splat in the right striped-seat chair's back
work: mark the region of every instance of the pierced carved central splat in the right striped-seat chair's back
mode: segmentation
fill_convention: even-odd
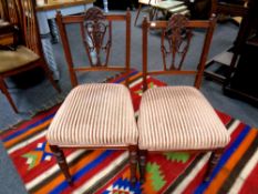
[[[174,14],[168,20],[167,29],[162,33],[162,55],[164,70],[180,70],[189,48],[193,33],[185,27],[187,18]],[[165,40],[167,44],[165,45]],[[171,55],[171,67],[167,67],[167,58]],[[177,60],[178,58],[178,60]]]

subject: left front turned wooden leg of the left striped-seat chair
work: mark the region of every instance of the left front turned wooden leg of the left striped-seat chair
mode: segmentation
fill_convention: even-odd
[[[72,176],[69,172],[69,165],[68,165],[66,160],[64,157],[63,151],[56,145],[50,145],[50,150],[53,152],[54,156],[56,157],[59,167],[61,169],[62,173],[64,174],[65,180],[72,186],[73,185]]]

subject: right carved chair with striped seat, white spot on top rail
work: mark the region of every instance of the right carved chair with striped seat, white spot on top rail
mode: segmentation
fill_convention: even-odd
[[[215,28],[216,19],[189,21],[182,14],[174,14],[168,21],[143,21],[143,78],[144,90],[138,114],[138,149],[141,181],[144,182],[147,152],[207,152],[213,151],[213,170],[223,149],[229,142],[226,127],[213,106],[200,93],[200,82]],[[149,71],[147,49],[149,29],[159,30],[163,70]],[[198,63],[186,62],[189,48],[198,55],[195,44],[190,44],[194,29],[204,29],[205,35]],[[153,31],[153,30],[152,30]],[[202,42],[202,41],[199,41]],[[192,47],[190,47],[192,45]],[[190,60],[192,61],[192,60]],[[147,75],[177,74],[193,75],[194,86],[176,85],[147,89]],[[173,76],[171,76],[172,79]],[[182,79],[183,80],[183,79]],[[178,81],[178,80],[177,80]],[[208,176],[207,176],[208,178]]]

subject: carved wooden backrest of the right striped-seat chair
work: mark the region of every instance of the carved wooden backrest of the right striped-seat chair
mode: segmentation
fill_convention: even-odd
[[[215,17],[210,20],[188,20],[185,16],[174,14],[168,21],[154,21],[149,22],[145,18],[142,25],[143,35],[143,82],[144,90],[147,89],[146,76],[151,74],[188,74],[195,75],[194,85],[199,89],[202,83],[202,76],[207,60],[213,32],[215,28],[216,19]],[[194,29],[204,29],[205,34],[204,41],[195,42],[193,44]],[[148,34],[149,31],[158,30],[161,32],[161,70],[148,71]],[[199,31],[198,31],[199,32]],[[202,33],[203,34],[203,33]],[[192,44],[190,44],[192,43]],[[197,49],[196,43],[202,43],[203,48]],[[153,45],[154,47],[154,45]],[[153,48],[152,48],[153,49]],[[197,51],[199,50],[199,60],[195,67],[186,65],[186,57],[189,49],[194,49],[192,54],[198,57]],[[192,50],[193,51],[193,50]],[[188,55],[187,55],[188,54]],[[157,57],[158,54],[156,54]],[[192,58],[193,58],[192,55]],[[188,60],[189,63],[192,60]],[[187,64],[188,64],[187,63]]]

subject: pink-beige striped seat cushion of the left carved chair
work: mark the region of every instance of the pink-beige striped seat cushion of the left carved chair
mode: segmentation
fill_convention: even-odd
[[[127,146],[137,144],[130,91],[122,84],[83,84],[73,89],[47,133],[60,146]]]

